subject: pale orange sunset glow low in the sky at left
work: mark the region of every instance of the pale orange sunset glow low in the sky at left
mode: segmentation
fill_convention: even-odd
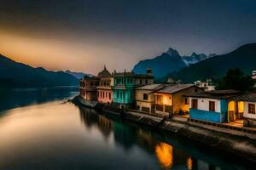
[[[109,71],[123,71],[123,68],[131,70],[134,64],[122,49],[86,41],[77,42],[73,37],[30,37],[1,29],[0,37],[0,54],[51,71],[71,70],[97,74],[103,65],[107,65]],[[120,63],[125,63],[125,66]]]

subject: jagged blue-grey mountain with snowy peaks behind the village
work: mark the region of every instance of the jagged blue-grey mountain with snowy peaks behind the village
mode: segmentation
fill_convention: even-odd
[[[166,74],[170,72],[178,71],[215,55],[216,54],[206,55],[193,53],[190,56],[181,56],[176,49],[169,48],[160,56],[139,61],[137,65],[134,66],[133,71],[136,73],[145,73],[146,69],[150,67],[154,71],[154,77],[159,79],[165,77]]]

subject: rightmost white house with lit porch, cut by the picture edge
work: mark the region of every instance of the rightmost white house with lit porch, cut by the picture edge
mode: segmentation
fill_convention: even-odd
[[[238,95],[231,98],[230,103],[235,105],[235,119],[238,115],[245,127],[256,127],[256,92]]]

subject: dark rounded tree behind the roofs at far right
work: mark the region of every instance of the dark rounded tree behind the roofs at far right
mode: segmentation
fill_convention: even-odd
[[[223,77],[216,89],[235,89],[240,91],[248,91],[253,88],[254,81],[252,77],[244,76],[239,69],[230,69]]]

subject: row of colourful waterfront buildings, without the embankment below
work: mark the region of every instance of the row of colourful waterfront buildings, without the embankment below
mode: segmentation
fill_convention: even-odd
[[[252,78],[256,79],[256,71]],[[147,74],[111,74],[104,66],[97,77],[80,81],[79,92],[81,103],[90,107],[102,104],[151,116],[177,116],[192,122],[217,122],[256,130],[255,92],[215,90],[210,81],[182,84],[168,78],[164,84],[154,84],[150,68]]]

